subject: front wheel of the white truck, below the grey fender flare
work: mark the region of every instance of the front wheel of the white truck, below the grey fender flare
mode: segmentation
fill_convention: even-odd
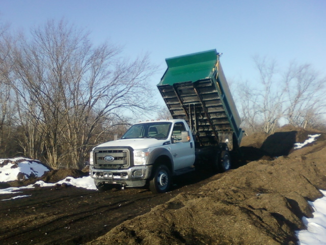
[[[149,189],[152,193],[165,193],[169,190],[172,176],[166,165],[158,165],[153,178],[149,181]]]

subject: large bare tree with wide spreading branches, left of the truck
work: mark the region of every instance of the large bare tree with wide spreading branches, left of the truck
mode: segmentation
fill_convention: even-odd
[[[13,55],[14,87],[19,107],[44,138],[40,146],[51,167],[67,160],[81,167],[101,135],[125,123],[124,113],[155,109],[147,82],[156,67],[148,55],[122,59],[119,47],[95,47],[88,33],[64,20],[48,21],[31,34]]]

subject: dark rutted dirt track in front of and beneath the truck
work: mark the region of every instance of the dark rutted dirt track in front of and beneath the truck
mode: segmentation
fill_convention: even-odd
[[[207,171],[185,175],[175,181],[171,192],[158,195],[128,188],[104,192],[76,187],[24,189],[17,195],[32,196],[2,202],[0,244],[82,244],[178,193],[198,189],[211,176]]]

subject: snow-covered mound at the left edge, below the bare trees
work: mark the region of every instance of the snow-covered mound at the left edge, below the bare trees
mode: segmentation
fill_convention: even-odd
[[[3,163],[5,160],[7,159],[0,159],[0,164]],[[42,175],[44,175],[45,171],[49,170],[43,164],[40,164],[39,162],[33,161],[29,158],[17,157],[8,160],[13,162],[17,162],[19,160],[26,161],[19,162],[17,164],[18,167],[14,168],[14,163],[8,163],[7,165],[0,167],[0,182],[17,180],[19,172],[21,172],[25,176],[25,179],[28,179],[31,174],[34,174],[36,177],[41,177]]]

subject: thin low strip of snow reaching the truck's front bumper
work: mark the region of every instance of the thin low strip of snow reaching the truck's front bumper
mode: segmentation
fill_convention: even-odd
[[[94,180],[90,176],[83,177],[83,178],[77,178],[77,179],[75,179],[73,177],[67,177],[64,180],[61,180],[57,183],[45,183],[44,181],[40,180],[40,181],[37,181],[35,184],[39,184],[40,187],[46,187],[46,186],[55,186],[56,184],[63,184],[63,183],[66,183],[67,185],[73,185],[76,187],[86,188],[89,190],[97,190],[97,188],[94,184]],[[21,192],[21,191],[17,191],[17,190],[35,188],[35,187],[33,187],[33,185],[22,186],[22,187],[9,187],[7,189],[0,189],[0,194],[17,193],[17,192]]]

